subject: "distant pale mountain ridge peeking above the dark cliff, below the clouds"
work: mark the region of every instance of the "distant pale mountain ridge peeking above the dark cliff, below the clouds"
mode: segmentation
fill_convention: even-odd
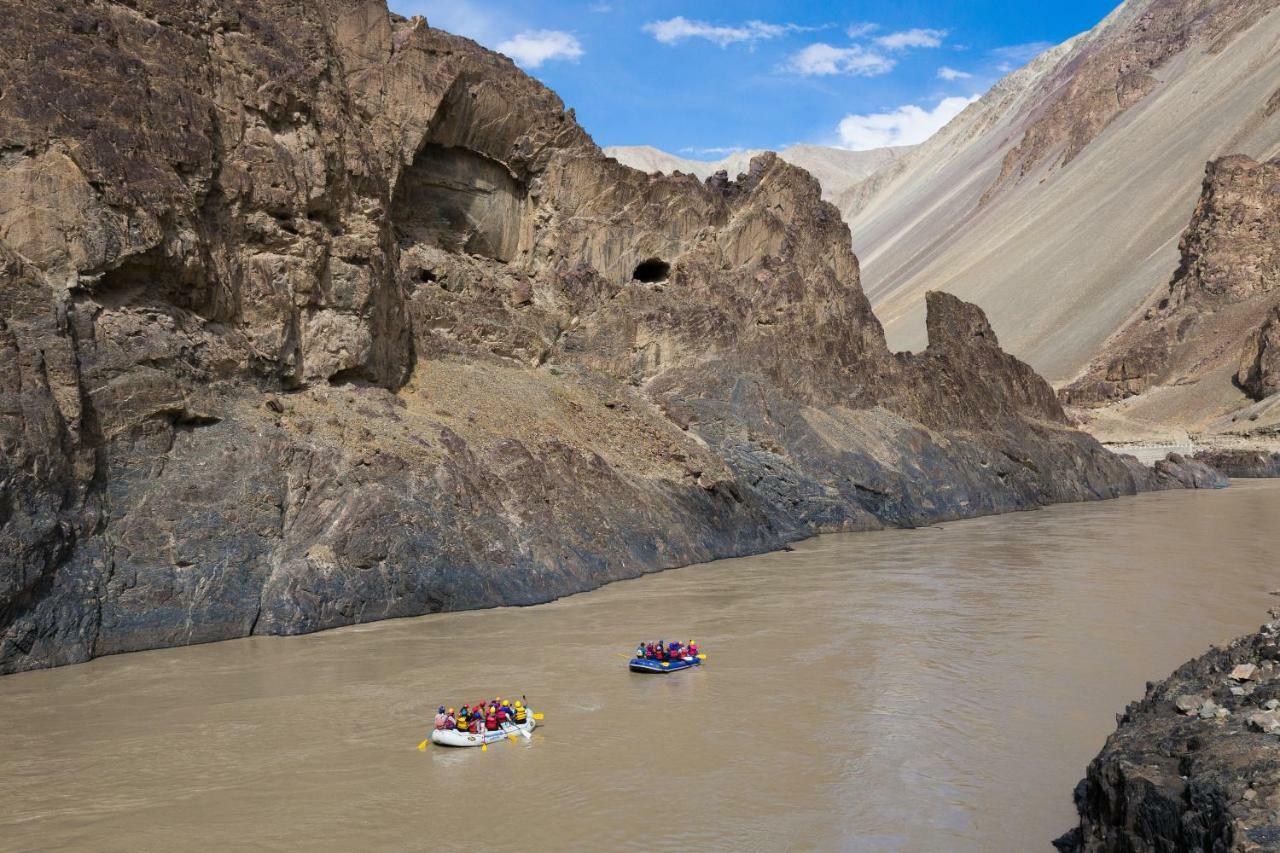
[[[792,145],[778,151],[778,156],[818,178],[818,183],[822,184],[822,197],[836,201],[850,187],[892,165],[910,150],[911,146],[846,151],[820,145]],[[763,154],[763,151],[739,151],[719,160],[689,160],[644,145],[613,146],[604,149],[604,152],[618,163],[641,172],[662,174],[684,172],[703,179],[722,170],[731,178],[739,175],[746,172],[753,158]]]

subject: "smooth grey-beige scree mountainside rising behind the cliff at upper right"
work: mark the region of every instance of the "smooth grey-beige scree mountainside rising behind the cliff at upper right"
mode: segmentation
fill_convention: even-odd
[[[1073,378],[1167,284],[1204,164],[1280,154],[1277,92],[1277,0],[1130,0],[1001,81],[841,200],[890,345],[941,288]]]

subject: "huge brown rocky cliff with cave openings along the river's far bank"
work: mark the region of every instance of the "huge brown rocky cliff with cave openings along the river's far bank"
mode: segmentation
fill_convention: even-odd
[[[0,1],[0,672],[1207,482],[381,0]],[[92,68],[92,74],[84,69]]]

